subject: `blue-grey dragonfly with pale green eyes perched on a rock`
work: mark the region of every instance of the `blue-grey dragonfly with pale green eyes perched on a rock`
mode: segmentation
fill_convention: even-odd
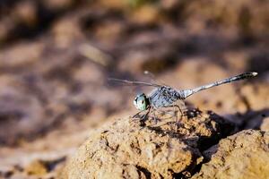
[[[257,72],[244,72],[235,76],[231,76],[230,78],[227,78],[221,81],[214,81],[212,83],[205,84],[197,88],[188,89],[188,90],[176,90],[167,85],[161,85],[161,84],[145,82],[145,81],[129,81],[129,80],[121,80],[121,79],[115,79],[115,78],[110,78],[108,80],[117,81],[117,82],[125,83],[128,85],[154,87],[155,89],[152,90],[148,95],[144,93],[140,93],[134,98],[134,107],[136,107],[136,109],[142,112],[148,109],[150,109],[149,111],[151,111],[151,109],[160,109],[161,107],[175,107],[174,104],[176,101],[185,100],[186,98],[194,95],[195,93],[199,91],[207,90],[207,89],[217,87],[222,84],[230,83],[233,81],[249,79],[249,78],[255,77],[257,74],[258,74]],[[180,110],[181,115],[183,115],[180,107],[178,107],[178,109]]]

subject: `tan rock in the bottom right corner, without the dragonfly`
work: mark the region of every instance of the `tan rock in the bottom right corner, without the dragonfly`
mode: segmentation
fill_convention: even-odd
[[[238,132],[210,149],[212,159],[192,178],[269,178],[268,152],[269,132]]]

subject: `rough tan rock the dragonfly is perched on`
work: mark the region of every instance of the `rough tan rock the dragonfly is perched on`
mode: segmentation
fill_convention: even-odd
[[[203,160],[201,149],[210,147],[232,129],[220,116],[210,112],[189,110],[178,127],[175,117],[156,116],[161,119],[157,124],[151,118],[143,121],[130,117],[92,132],[67,161],[61,177],[189,176]]]

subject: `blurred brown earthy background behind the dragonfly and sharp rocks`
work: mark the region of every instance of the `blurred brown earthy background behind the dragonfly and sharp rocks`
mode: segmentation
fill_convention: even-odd
[[[177,89],[258,72],[187,103],[263,128],[268,47],[266,0],[1,0],[0,178],[55,176],[94,128],[136,112],[138,90],[108,78],[144,71]]]

